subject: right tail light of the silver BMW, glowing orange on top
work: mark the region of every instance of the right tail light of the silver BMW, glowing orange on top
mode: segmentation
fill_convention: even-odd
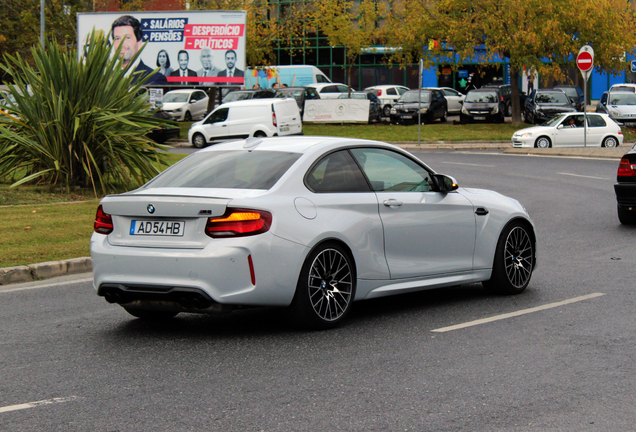
[[[271,225],[269,212],[228,209],[223,216],[208,218],[205,233],[212,238],[245,237],[267,232]]]

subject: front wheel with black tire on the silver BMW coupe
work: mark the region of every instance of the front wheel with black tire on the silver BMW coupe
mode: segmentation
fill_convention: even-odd
[[[513,221],[497,241],[490,280],[484,288],[498,294],[519,294],[526,289],[535,265],[535,245],[528,225]]]

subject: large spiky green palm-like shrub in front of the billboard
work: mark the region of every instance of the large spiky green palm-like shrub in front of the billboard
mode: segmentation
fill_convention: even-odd
[[[36,181],[101,189],[154,177],[162,147],[145,134],[163,122],[137,93],[139,79],[123,68],[103,34],[93,33],[82,61],[56,43],[34,47],[35,67],[5,55],[15,79],[16,106],[0,115],[0,176],[12,186]],[[134,60],[133,60],[134,61]]]

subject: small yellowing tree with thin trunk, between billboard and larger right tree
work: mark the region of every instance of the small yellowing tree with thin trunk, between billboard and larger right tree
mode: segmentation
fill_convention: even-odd
[[[380,34],[378,5],[375,0],[318,0],[313,13],[314,24],[327,36],[329,44],[345,48],[347,85],[362,49],[373,46]]]

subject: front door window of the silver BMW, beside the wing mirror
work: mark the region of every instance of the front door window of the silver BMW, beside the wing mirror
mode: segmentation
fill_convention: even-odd
[[[430,173],[400,153],[376,148],[351,149],[351,153],[362,167],[374,191],[432,190]]]

